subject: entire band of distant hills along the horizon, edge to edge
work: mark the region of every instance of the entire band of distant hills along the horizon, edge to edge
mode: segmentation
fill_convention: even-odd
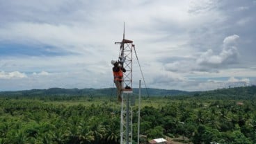
[[[0,96],[115,96],[115,88],[105,89],[31,89],[26,91],[0,91]],[[138,89],[134,89],[138,94]],[[195,96],[202,98],[256,98],[256,86],[216,89],[213,91],[179,91],[167,89],[141,89],[142,96]]]

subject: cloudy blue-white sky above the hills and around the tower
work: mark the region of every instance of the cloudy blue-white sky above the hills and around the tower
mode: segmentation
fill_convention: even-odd
[[[256,84],[256,0],[0,0],[0,91],[113,87],[124,22],[134,87]]]

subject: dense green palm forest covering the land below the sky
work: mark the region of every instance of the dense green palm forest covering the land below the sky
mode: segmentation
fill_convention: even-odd
[[[115,93],[25,92],[0,92],[0,144],[120,143]],[[178,137],[181,143],[256,143],[255,86],[144,94],[141,104],[140,143]],[[132,109],[136,143],[137,102]]]

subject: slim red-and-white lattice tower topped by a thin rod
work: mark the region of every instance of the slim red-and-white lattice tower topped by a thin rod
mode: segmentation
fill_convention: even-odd
[[[122,66],[126,69],[122,78],[122,105],[120,114],[120,144],[132,143],[132,108],[133,105],[133,89],[132,89],[132,50],[134,48],[133,41],[125,39],[125,24],[122,42],[120,44],[120,54]]]

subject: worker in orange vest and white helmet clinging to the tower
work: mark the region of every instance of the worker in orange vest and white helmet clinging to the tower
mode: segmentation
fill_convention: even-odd
[[[118,96],[118,101],[122,102],[122,73],[126,72],[125,68],[123,67],[123,63],[120,61],[115,61],[111,60],[111,64],[113,64],[113,76],[114,76],[114,83],[117,89],[117,96]]]

